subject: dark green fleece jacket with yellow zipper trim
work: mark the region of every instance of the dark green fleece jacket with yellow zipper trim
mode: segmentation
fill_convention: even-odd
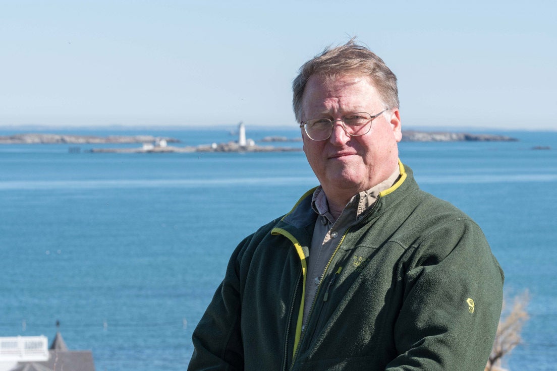
[[[480,227],[401,177],[346,231],[302,328],[312,190],[234,250],[188,370],[482,371],[503,273]]]

